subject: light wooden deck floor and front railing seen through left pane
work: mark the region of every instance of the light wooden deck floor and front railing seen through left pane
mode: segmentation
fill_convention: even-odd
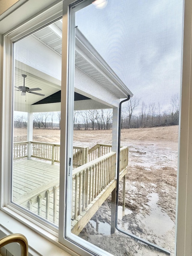
[[[49,191],[49,199],[46,191]],[[40,194],[41,202],[39,202]],[[34,158],[14,161],[13,202],[58,225],[59,164],[53,165],[49,161]]]

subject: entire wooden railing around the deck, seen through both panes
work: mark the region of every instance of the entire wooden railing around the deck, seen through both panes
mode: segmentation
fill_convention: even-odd
[[[25,143],[26,142],[18,143],[18,145]],[[41,142],[32,143],[34,157],[52,161],[54,156],[56,158],[54,161],[59,161],[58,152],[60,145]],[[22,148],[22,146],[17,146],[16,143],[15,145],[15,148]],[[53,147],[58,148],[55,150]],[[107,151],[110,152],[104,154]],[[54,154],[52,152],[54,152]],[[116,178],[116,152],[111,152],[111,145],[97,144],[90,152],[88,152],[87,147],[74,147],[73,160],[79,162],[80,165],[83,161],[85,162],[86,156],[91,154],[91,152],[96,152],[96,159],[73,169],[72,200],[74,202],[71,216],[73,219],[76,219],[78,215],[85,211],[88,205],[93,203],[94,199]],[[98,152],[101,154],[100,157],[98,157]],[[23,156],[24,155],[25,154],[23,154]],[[83,155],[83,158],[81,158],[80,155]],[[17,158],[23,156],[20,153],[20,156],[17,155]],[[127,165],[128,147],[121,147],[120,172],[125,170]],[[59,179],[54,179],[41,187],[20,195],[14,202],[56,224],[58,191]]]

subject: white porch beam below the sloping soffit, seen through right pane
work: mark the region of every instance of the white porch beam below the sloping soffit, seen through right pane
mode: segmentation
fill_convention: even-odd
[[[119,107],[120,99],[116,95],[76,67],[74,86],[75,92],[107,105],[109,108]]]

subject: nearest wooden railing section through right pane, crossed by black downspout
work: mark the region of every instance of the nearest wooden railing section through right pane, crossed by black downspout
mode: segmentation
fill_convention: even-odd
[[[128,147],[120,149],[120,172],[128,165]],[[73,170],[73,198],[76,219],[116,175],[116,152],[110,152]],[[72,198],[72,200],[73,200]]]

